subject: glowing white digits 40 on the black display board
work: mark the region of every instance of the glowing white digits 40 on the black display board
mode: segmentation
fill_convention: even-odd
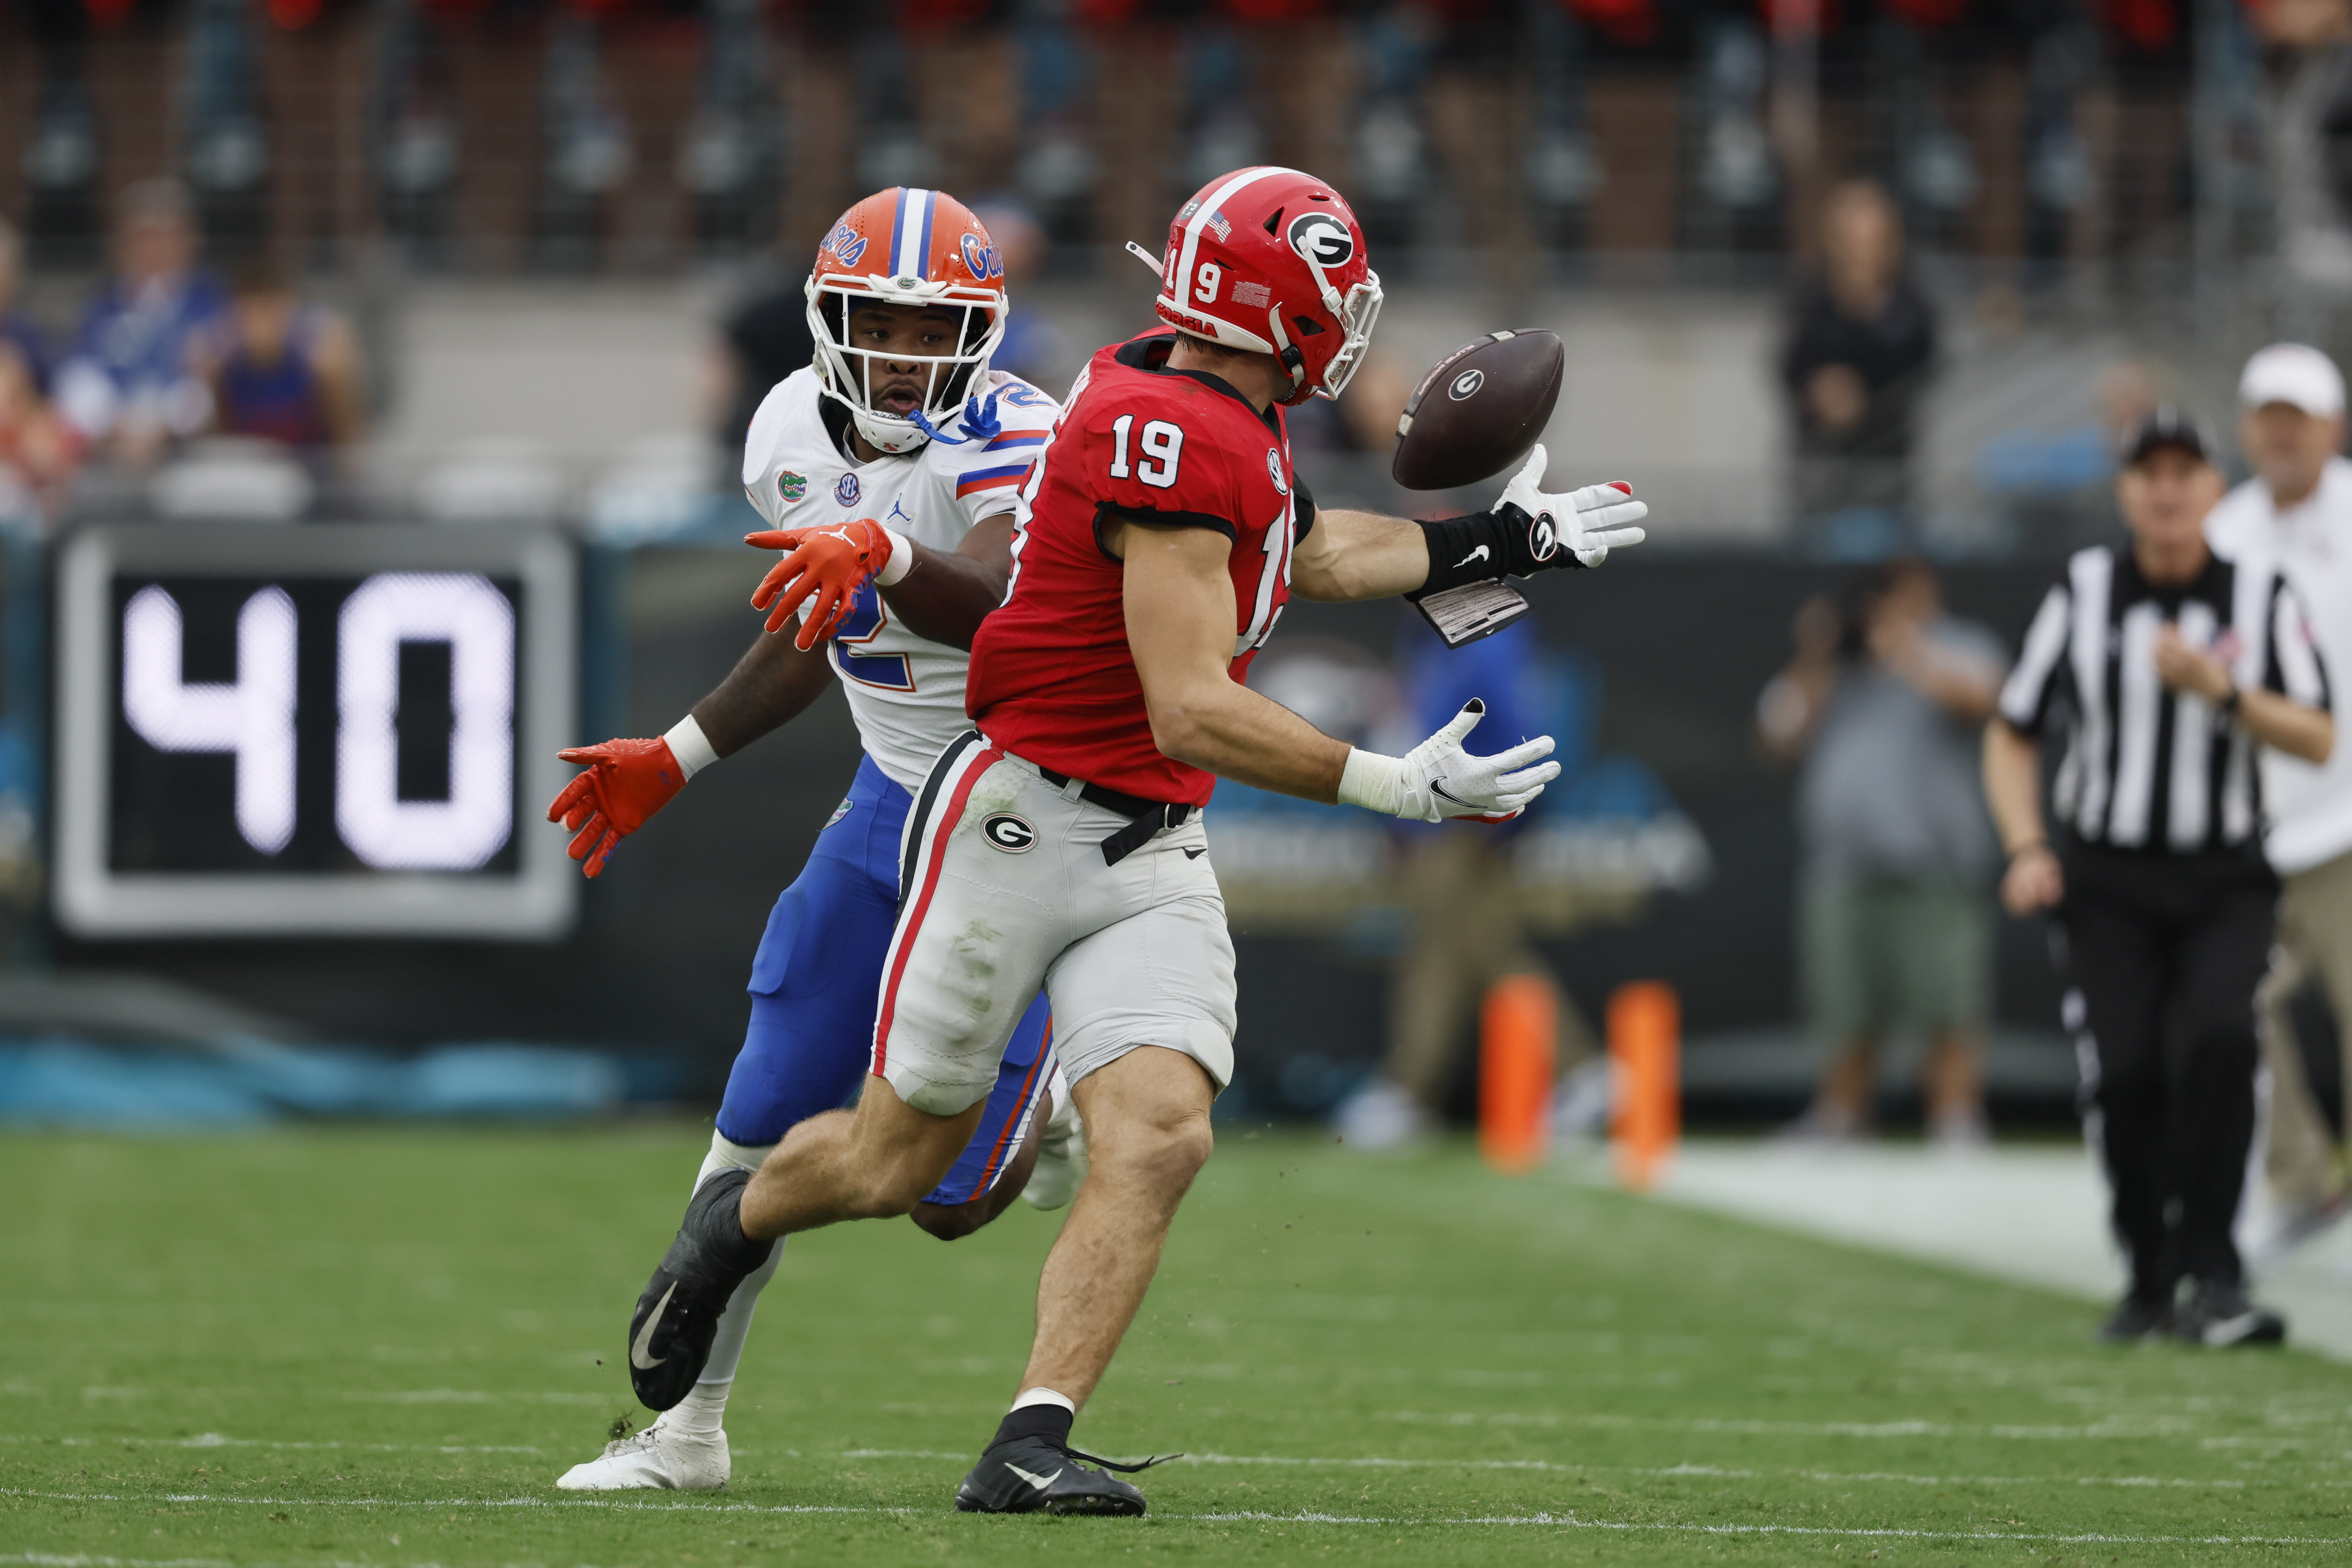
[[[315,604],[315,595],[310,597]],[[468,872],[485,867],[515,830],[515,607],[487,576],[383,571],[362,578],[334,616],[334,830],[372,870]],[[242,842],[280,856],[294,839],[301,745],[303,611],[282,585],[263,585],[235,611],[233,679],[188,679],[188,614],[167,583],[146,583],[122,604],[120,717],[165,755],[233,759],[233,818]],[[423,663],[414,654],[440,658]],[[440,675],[421,701],[447,764],[416,788],[412,748],[416,672]],[[407,679],[402,672],[407,670]],[[407,788],[405,788],[407,785]]]

